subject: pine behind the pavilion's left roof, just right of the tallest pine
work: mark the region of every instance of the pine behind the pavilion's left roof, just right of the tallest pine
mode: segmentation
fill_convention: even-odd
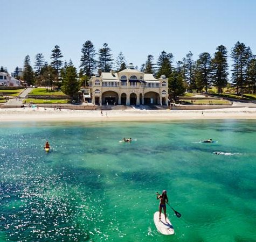
[[[103,44],[103,48],[99,49],[99,61],[98,67],[102,72],[110,72],[113,65],[113,59],[111,54],[111,49],[108,47],[108,44]]]

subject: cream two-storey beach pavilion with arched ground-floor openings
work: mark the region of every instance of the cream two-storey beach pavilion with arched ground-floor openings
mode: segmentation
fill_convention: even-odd
[[[168,105],[168,79],[155,79],[134,69],[132,65],[121,72],[102,72],[89,80],[92,103],[119,105]]]

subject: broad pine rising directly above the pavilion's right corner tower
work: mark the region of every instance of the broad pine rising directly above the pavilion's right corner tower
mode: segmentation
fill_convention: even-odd
[[[159,78],[161,75],[165,75],[167,78],[170,77],[172,72],[172,62],[174,56],[171,53],[162,51],[156,62],[157,73],[156,77]]]

